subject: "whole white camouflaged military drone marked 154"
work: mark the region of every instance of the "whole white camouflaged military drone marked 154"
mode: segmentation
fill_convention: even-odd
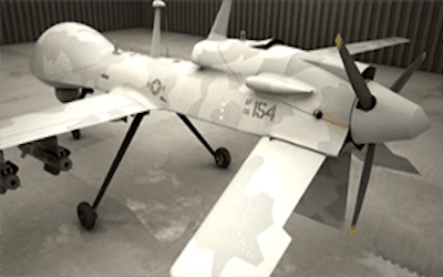
[[[150,112],[176,113],[215,157],[229,165],[229,152],[214,150],[188,120],[207,121],[261,140],[223,193],[171,269],[173,276],[269,276],[291,238],[284,225],[293,211],[342,226],[350,150],[368,144],[354,228],[377,164],[375,145],[391,167],[414,172],[382,144],[411,140],[430,127],[422,107],[399,95],[424,54],[392,84],[373,81],[375,69],[351,55],[406,43],[390,38],[313,51],[277,40],[228,39],[231,0],[224,0],[208,38],[192,61],[161,57],[161,0],[155,9],[151,55],[117,49],[94,29],[64,22],[38,40],[31,71],[53,86],[60,106],[0,121],[0,193],[14,189],[18,166],[1,150],[19,146],[44,163],[69,171],[69,150],[56,135],[135,115],[92,205],[78,206],[82,226],[93,228],[99,204],[141,121]],[[84,98],[93,91],[106,93]],[[75,101],[74,101],[75,100]],[[395,167],[396,162],[401,165]],[[11,195],[13,197],[13,195]],[[229,216],[226,216],[229,215]]]

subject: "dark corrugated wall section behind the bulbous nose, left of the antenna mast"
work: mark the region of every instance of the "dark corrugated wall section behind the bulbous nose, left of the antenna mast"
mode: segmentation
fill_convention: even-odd
[[[50,25],[78,21],[100,31],[142,25],[142,0],[0,0],[0,44],[33,41]]]

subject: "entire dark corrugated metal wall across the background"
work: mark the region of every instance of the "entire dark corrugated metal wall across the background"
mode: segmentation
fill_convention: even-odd
[[[289,45],[333,45],[337,33],[347,42],[405,37],[411,43],[358,59],[406,66],[423,51],[422,70],[443,73],[443,0],[233,0],[229,35],[274,37]],[[0,0],[0,44],[35,40],[60,21],[85,22],[100,31],[152,25],[151,0]],[[222,0],[165,0],[164,29],[206,35]]]

